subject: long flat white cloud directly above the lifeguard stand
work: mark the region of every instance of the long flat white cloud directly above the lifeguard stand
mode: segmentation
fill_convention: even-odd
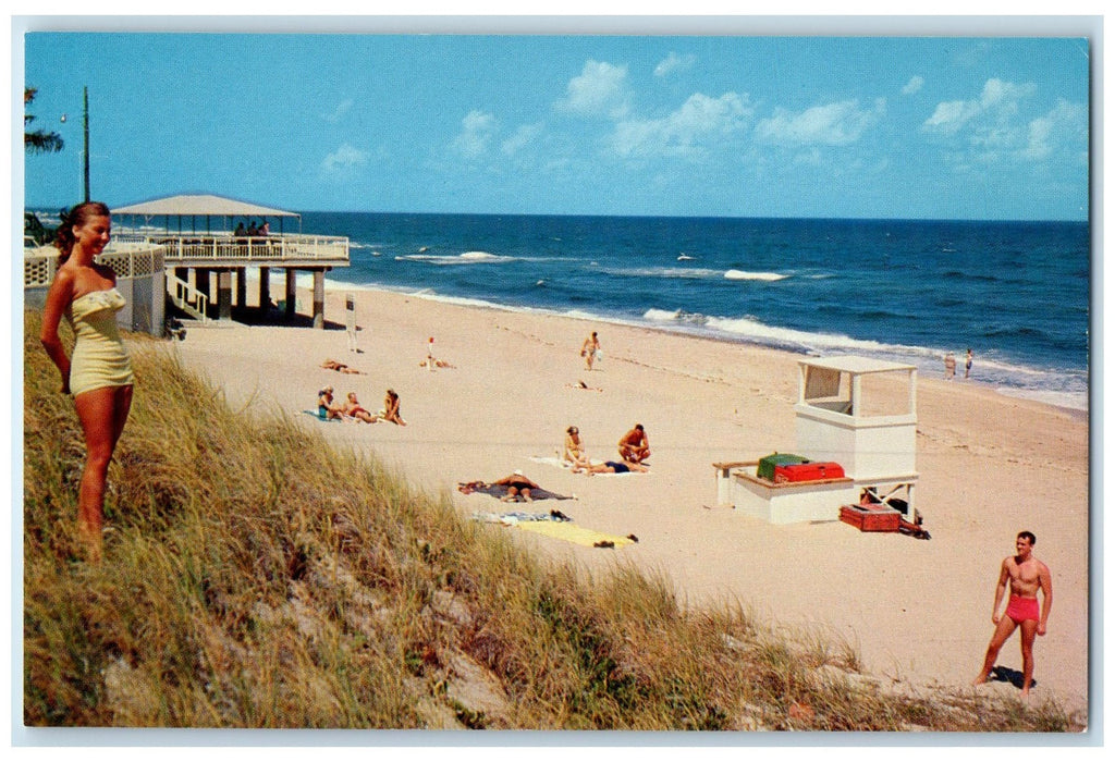
[[[859,100],[842,100],[814,106],[797,114],[776,108],[774,115],[755,127],[758,139],[789,146],[845,146],[855,143],[886,111],[886,100],[879,98],[870,108]]]

